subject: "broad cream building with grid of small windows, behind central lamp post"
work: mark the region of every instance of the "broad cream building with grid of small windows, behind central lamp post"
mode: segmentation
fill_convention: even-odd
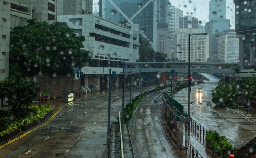
[[[178,29],[174,36],[173,58],[180,58],[188,62],[188,35],[204,33],[204,29]],[[206,62],[209,57],[209,36],[208,35],[193,35],[190,37],[190,61],[191,62]]]

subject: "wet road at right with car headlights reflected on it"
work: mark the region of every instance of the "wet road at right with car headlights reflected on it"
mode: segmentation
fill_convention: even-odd
[[[217,109],[211,101],[212,92],[217,86],[218,80],[204,74],[210,81],[204,84],[192,86],[190,93],[190,116],[206,129],[217,130],[220,135],[224,135],[234,147],[242,147],[251,139],[256,137],[256,117],[239,109]],[[197,88],[201,87],[203,92],[198,94]],[[179,91],[174,98],[184,105],[184,110],[188,110],[188,89]],[[192,131],[189,137],[193,137]],[[192,138],[191,138],[192,139]],[[200,151],[199,151],[200,152]]]

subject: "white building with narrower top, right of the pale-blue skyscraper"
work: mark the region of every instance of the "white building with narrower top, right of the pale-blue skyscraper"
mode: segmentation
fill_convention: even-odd
[[[235,32],[227,32],[219,37],[218,60],[220,62],[238,62],[239,59],[239,38]]]

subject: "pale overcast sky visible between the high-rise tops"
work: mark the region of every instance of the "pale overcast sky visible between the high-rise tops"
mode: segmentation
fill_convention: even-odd
[[[127,0],[129,1],[129,0]],[[191,2],[189,2],[191,1]],[[172,6],[183,10],[183,16],[192,15],[201,21],[202,25],[209,22],[209,1],[210,0],[171,0]],[[233,0],[227,2],[227,19],[230,19],[231,28],[235,28],[235,4]],[[98,0],[93,0],[93,10],[98,9]]]

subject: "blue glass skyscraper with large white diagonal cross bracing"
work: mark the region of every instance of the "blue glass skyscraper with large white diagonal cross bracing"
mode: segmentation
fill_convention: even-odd
[[[139,24],[140,34],[156,50],[157,24],[167,22],[168,0],[100,0],[99,15],[117,24]]]

